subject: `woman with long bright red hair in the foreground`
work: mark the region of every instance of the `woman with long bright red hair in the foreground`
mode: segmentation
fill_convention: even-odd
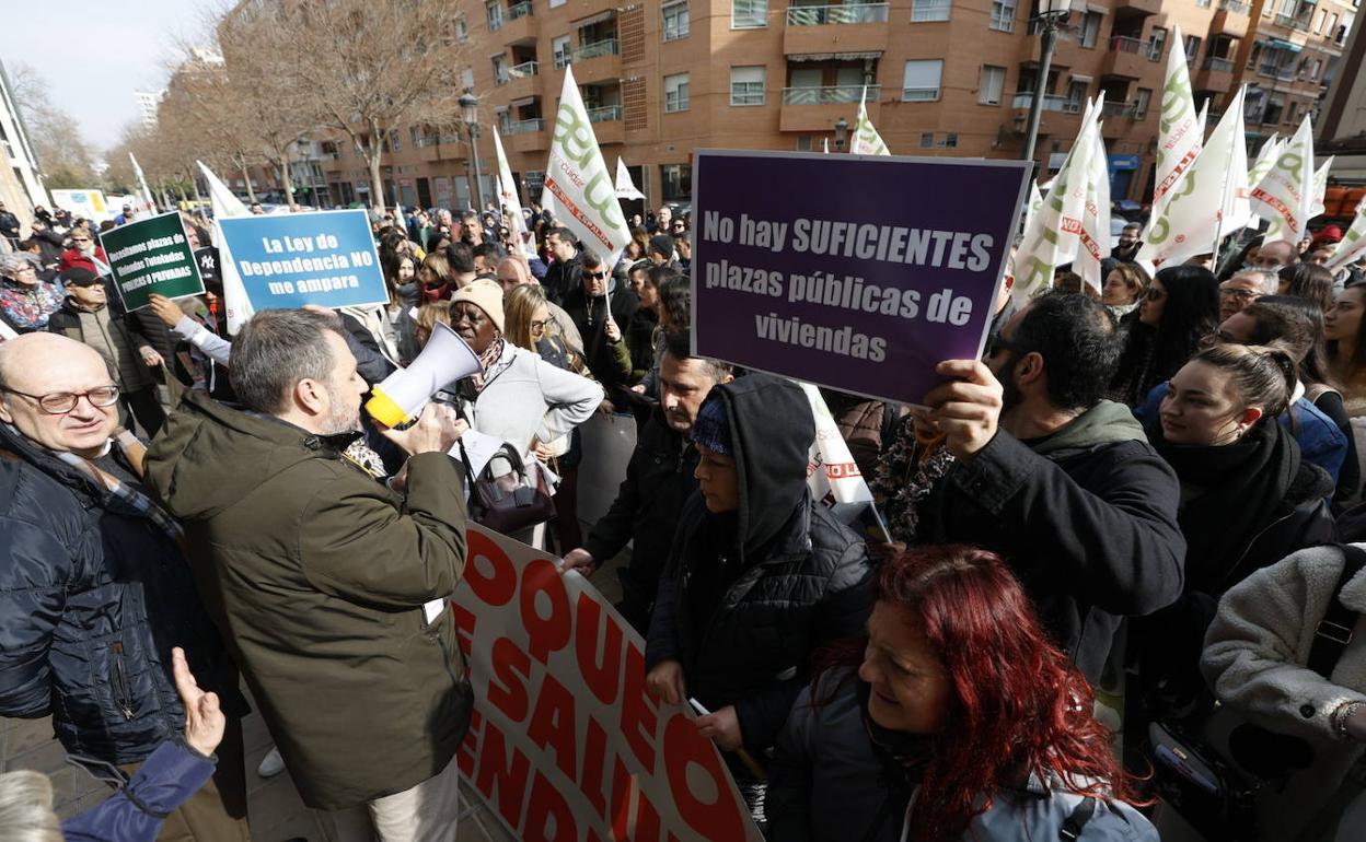
[[[1086,680],[997,555],[904,553],[876,590],[862,659],[836,651],[779,741],[773,839],[1156,842]]]

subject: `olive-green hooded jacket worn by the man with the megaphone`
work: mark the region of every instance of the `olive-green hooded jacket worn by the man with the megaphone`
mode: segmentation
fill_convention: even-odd
[[[471,708],[449,609],[422,611],[464,569],[448,456],[413,457],[404,499],[324,437],[187,393],[146,480],[184,524],[205,607],[305,804],[355,807],[445,768]]]

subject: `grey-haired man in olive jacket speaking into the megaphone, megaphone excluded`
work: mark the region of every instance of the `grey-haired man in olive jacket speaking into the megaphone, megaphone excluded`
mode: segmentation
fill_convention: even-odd
[[[471,710],[445,605],[466,557],[447,456],[464,424],[428,404],[384,430],[408,453],[400,495],[342,456],[367,386],[335,315],[258,313],[231,375],[243,409],[187,393],[148,483],[184,524],[205,606],[303,802],[333,827],[370,820],[381,841],[447,838]]]

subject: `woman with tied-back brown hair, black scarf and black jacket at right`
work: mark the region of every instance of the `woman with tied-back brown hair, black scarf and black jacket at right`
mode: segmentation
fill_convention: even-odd
[[[1276,420],[1298,385],[1298,366],[1281,348],[1214,345],[1172,377],[1156,422],[1145,426],[1180,480],[1186,536],[1182,598],[1131,626],[1139,674],[1162,678],[1156,712],[1212,701],[1199,654],[1228,588],[1295,550],[1333,540],[1333,480]]]

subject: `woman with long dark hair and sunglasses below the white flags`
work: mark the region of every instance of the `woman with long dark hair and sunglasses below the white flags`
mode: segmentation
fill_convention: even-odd
[[[1137,407],[1153,386],[1171,378],[1218,323],[1218,281],[1199,266],[1157,273],[1128,325],[1111,400]]]

